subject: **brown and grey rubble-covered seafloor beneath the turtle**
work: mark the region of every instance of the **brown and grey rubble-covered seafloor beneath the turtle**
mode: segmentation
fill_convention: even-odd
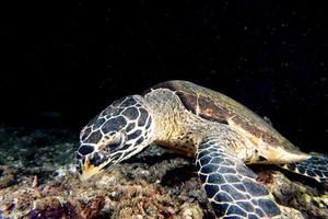
[[[78,134],[0,126],[0,218],[214,218],[194,161],[156,146],[90,182],[74,173]],[[325,185],[254,165],[288,218],[328,218]]]

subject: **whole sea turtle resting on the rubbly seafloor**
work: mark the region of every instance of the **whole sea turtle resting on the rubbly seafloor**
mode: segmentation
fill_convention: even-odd
[[[166,81],[112,103],[81,131],[77,170],[86,180],[151,143],[196,157],[215,216],[282,218],[249,163],[277,164],[323,182],[328,158],[300,151],[268,122],[224,94]]]

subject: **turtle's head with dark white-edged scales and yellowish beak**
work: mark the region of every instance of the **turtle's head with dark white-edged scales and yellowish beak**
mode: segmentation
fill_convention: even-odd
[[[151,143],[152,117],[139,95],[112,103],[80,134],[77,171],[87,180]]]

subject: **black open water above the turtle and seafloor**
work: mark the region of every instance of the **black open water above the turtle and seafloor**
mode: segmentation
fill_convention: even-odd
[[[328,152],[324,1],[28,1],[1,11],[3,124],[78,132],[112,101],[183,79],[269,117],[303,150]]]

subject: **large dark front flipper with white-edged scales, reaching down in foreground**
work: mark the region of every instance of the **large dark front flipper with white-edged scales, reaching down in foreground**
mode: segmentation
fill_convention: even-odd
[[[197,149],[199,177],[219,218],[282,218],[256,174],[220,139],[203,139]]]

